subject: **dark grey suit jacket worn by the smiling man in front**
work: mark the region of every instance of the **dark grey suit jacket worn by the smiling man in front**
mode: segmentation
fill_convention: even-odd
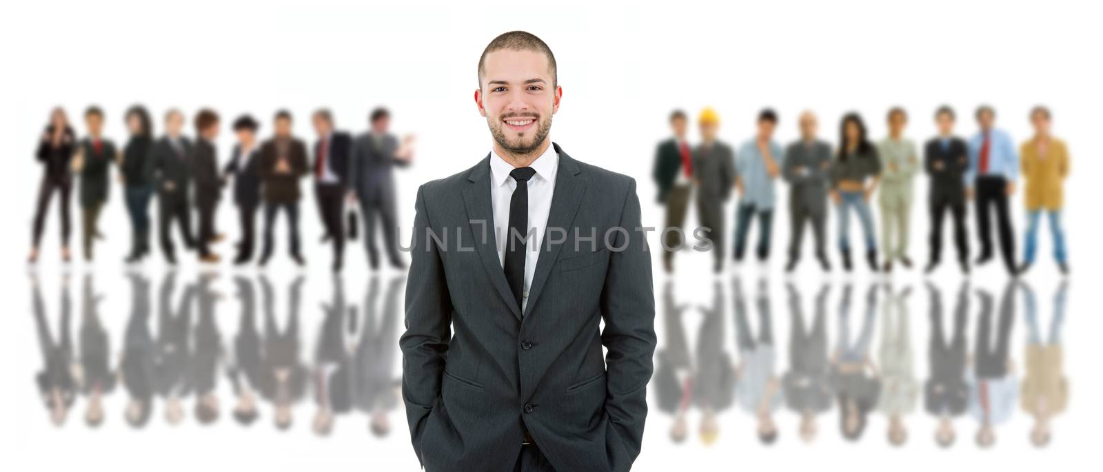
[[[655,302],[635,181],[553,146],[559,169],[524,312],[495,249],[490,153],[418,190],[399,345],[427,471],[511,471],[525,428],[559,471],[627,471],[640,453]],[[603,237],[613,227],[627,230]]]

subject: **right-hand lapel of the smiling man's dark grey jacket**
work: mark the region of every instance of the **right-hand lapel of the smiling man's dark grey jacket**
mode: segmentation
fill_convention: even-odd
[[[570,230],[578,213],[578,206],[582,202],[582,194],[586,193],[586,176],[581,174],[578,162],[567,155],[559,144],[552,143],[559,154],[559,169],[556,171],[555,190],[552,193],[552,210],[548,213],[548,224],[544,229],[544,239],[540,245],[540,255],[536,261],[536,272],[533,275],[532,286],[528,288],[528,302],[525,305],[525,317],[533,311],[536,300],[547,282],[552,266],[559,258],[559,250],[564,244],[556,244],[548,247],[547,228],[563,228],[568,232],[567,240],[570,240]],[[504,273],[504,272],[503,272]],[[503,280],[505,278],[503,277]],[[511,292],[507,292],[511,293]]]

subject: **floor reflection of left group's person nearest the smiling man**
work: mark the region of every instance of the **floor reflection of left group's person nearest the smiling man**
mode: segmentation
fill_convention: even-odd
[[[356,409],[371,417],[368,426],[376,437],[390,432],[387,412],[398,406],[398,395],[395,391],[398,380],[393,372],[397,354],[395,343],[398,341],[398,297],[405,280],[405,276],[394,276],[387,282],[379,317],[376,313],[381,311],[375,309],[378,280],[374,277],[364,299],[364,321],[361,323],[353,364],[353,395]]]

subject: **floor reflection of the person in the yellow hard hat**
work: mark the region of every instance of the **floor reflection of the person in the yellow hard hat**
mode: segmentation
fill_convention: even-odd
[[[711,446],[720,435],[716,416],[728,409],[736,396],[736,371],[731,356],[724,348],[724,290],[720,282],[713,286],[713,305],[700,307],[700,312],[705,320],[697,333],[693,403],[703,415],[700,440],[705,446]]]

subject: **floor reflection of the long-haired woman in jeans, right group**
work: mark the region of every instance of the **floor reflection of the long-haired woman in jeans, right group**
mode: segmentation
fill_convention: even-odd
[[[857,441],[866,429],[869,411],[877,405],[881,394],[881,379],[877,367],[869,358],[869,345],[874,337],[877,315],[877,286],[870,286],[866,294],[866,317],[858,337],[850,342],[850,286],[843,289],[843,300],[838,309],[838,340],[832,355],[829,382],[838,398],[839,429],[843,437]]]

